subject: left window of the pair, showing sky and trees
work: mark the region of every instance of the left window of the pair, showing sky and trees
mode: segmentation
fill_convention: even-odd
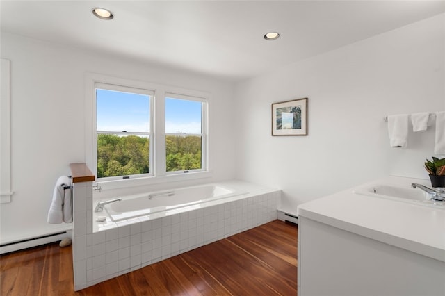
[[[97,178],[149,175],[153,92],[97,83]]]

